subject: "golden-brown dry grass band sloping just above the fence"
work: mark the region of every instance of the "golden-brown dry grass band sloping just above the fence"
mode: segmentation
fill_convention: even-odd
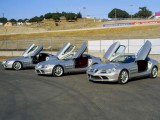
[[[105,28],[98,30],[78,30],[63,32],[42,32],[31,34],[0,35],[0,40],[4,39],[23,39],[41,37],[103,37],[107,39],[140,39],[140,38],[159,38],[160,24],[147,26]]]

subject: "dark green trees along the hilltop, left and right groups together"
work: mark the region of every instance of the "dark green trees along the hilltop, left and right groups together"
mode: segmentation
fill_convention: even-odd
[[[150,11],[147,7],[139,7],[139,11],[133,15],[129,14],[127,11],[114,8],[108,13],[108,18],[148,18],[152,15],[152,11]],[[65,17],[67,21],[75,21],[78,18],[82,18],[82,14],[79,13],[72,13],[72,12],[56,12],[56,13],[46,13],[45,15],[41,16],[35,16],[31,19],[10,19],[7,20],[7,18],[0,18],[1,23],[6,23],[8,21],[10,22],[41,22],[44,19],[53,19],[55,22],[59,22],[61,17]]]

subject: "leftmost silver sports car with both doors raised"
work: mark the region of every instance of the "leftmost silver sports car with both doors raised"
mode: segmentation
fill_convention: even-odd
[[[32,44],[25,50],[21,57],[7,59],[2,62],[2,66],[4,69],[21,70],[23,68],[35,67],[37,63],[54,57],[51,54],[40,53],[42,49],[43,45],[36,46]]]

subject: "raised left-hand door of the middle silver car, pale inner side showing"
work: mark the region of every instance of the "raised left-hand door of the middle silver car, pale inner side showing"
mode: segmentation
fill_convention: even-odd
[[[65,44],[56,54],[58,59],[64,59],[67,56],[69,56],[73,50],[75,49],[75,46],[71,45],[70,43]]]

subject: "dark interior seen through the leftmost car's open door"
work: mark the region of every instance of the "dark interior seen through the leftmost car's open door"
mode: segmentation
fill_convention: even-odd
[[[46,61],[46,57],[48,57],[48,55],[45,53],[40,53],[39,55],[34,56],[33,57],[33,64],[37,64],[39,62]]]

